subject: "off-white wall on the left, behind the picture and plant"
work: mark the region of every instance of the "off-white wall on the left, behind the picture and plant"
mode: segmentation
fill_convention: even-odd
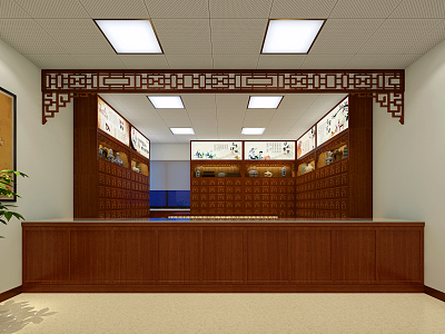
[[[27,220],[72,217],[72,105],[41,124],[40,69],[0,40],[0,86],[17,96],[17,210]],[[0,226],[0,293],[21,285],[21,226]]]

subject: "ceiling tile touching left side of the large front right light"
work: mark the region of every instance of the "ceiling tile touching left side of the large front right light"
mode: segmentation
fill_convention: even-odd
[[[267,19],[211,19],[214,53],[259,53]],[[239,67],[237,67],[239,68]]]

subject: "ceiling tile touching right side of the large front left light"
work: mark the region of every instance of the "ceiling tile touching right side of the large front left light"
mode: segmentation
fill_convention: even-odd
[[[211,53],[208,19],[154,19],[166,55]]]

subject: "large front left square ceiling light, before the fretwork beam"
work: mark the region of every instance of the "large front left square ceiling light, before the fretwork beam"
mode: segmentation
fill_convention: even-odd
[[[95,20],[117,53],[162,53],[150,20]]]

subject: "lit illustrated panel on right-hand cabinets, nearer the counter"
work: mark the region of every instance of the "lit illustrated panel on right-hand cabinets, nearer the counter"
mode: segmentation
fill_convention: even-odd
[[[348,128],[348,98],[317,122],[317,146]]]

